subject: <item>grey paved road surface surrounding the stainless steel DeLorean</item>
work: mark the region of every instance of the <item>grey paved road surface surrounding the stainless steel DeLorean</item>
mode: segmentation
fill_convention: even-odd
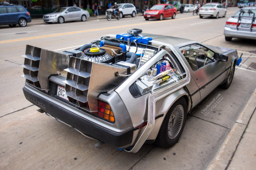
[[[237,10],[228,8],[227,17],[218,19],[183,13],[162,21],[145,21],[139,16],[64,24],[29,23],[24,28],[0,26],[0,169],[206,169],[256,87],[256,72],[247,70],[256,61],[256,41],[224,40],[225,22]],[[163,149],[145,144],[138,153],[126,153],[108,144],[98,148],[94,146],[97,141],[40,113],[25,99],[25,79],[20,77],[24,59],[20,56],[25,54],[26,44],[64,51],[131,28],[235,48],[243,53],[230,88],[216,89],[192,112],[175,146]],[[203,109],[216,97],[221,102],[205,116]]]

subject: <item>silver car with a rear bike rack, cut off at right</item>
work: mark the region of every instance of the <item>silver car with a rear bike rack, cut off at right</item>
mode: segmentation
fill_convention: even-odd
[[[233,37],[256,40],[256,7],[245,7],[239,9],[230,17],[224,28],[226,41]]]

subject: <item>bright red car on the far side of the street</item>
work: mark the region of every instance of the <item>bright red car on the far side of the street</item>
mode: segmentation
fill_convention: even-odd
[[[157,20],[163,20],[163,18],[169,18],[172,17],[172,19],[175,19],[175,16],[177,14],[177,9],[170,5],[170,4],[158,4],[152,6],[150,10],[144,12],[144,18],[145,20],[149,19],[157,19]]]

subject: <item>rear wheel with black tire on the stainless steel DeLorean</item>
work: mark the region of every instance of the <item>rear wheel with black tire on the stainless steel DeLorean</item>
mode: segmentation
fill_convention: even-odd
[[[173,146],[184,129],[187,115],[187,103],[182,97],[178,99],[166,114],[155,143],[160,147]]]

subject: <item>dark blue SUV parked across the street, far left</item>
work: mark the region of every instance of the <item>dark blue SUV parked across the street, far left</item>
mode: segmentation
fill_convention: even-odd
[[[29,12],[23,6],[4,5],[0,6],[0,26],[9,25],[15,27],[16,24],[24,27],[31,22]]]

